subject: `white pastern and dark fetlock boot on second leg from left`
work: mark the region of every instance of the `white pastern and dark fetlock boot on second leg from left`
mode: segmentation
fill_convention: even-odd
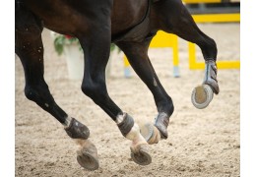
[[[138,146],[148,144],[141,135],[138,124],[127,113],[119,114],[116,118],[116,123],[122,135],[132,141],[133,150],[138,149]]]

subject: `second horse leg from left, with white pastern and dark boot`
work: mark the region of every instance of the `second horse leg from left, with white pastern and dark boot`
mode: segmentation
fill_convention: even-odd
[[[107,6],[102,9],[107,9]],[[104,14],[96,13],[95,15],[97,21],[89,23],[92,26],[88,29],[93,29],[90,30],[90,36],[83,37],[89,32],[87,30],[78,36],[85,54],[82,90],[115,121],[122,135],[132,141],[131,156],[134,161],[140,165],[150,164],[152,159],[148,153],[148,144],[140,134],[138,125],[108,95],[105,85],[105,67],[111,43],[110,12],[106,10]]]

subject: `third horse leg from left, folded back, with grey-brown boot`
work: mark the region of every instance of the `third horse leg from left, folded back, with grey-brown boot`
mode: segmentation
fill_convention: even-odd
[[[151,124],[146,125],[145,128],[149,131],[146,131],[144,137],[149,144],[156,144],[160,141],[160,138],[167,139],[168,137],[167,126],[174,106],[170,96],[162,88],[160,80],[150,62],[148,56],[150,41],[151,39],[146,39],[143,42],[117,42],[117,45],[125,52],[137,75],[153,93],[159,112],[155,120],[155,126],[158,129],[151,126]],[[158,130],[160,131],[160,136]]]

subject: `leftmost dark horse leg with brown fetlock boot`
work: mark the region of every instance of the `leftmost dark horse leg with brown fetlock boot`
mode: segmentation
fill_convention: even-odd
[[[23,64],[27,98],[55,117],[64,126],[68,136],[81,145],[85,152],[78,154],[78,161],[81,164],[83,160],[82,166],[90,170],[98,168],[96,148],[89,141],[88,127],[71,118],[57,105],[44,81],[40,22],[25,8],[17,10],[16,15],[15,50]]]

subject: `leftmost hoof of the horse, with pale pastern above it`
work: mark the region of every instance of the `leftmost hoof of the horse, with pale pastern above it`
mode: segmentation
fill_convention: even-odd
[[[99,167],[96,147],[93,144],[78,150],[77,160],[82,167],[91,171]]]

